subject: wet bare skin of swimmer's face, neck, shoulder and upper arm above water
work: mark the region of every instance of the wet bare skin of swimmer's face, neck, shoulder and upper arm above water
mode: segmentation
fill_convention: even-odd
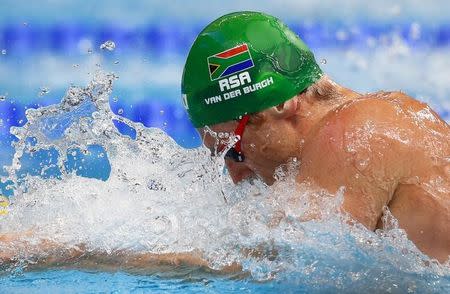
[[[382,228],[387,206],[408,238],[430,257],[450,255],[450,127],[426,104],[400,93],[339,99],[302,94],[295,111],[265,111],[245,130],[242,163],[226,159],[235,183],[259,177],[273,184],[276,167],[300,161],[298,182],[336,193],[343,210],[370,230]],[[282,107],[281,107],[282,108]],[[236,122],[214,125],[232,132]],[[214,152],[215,139],[204,144]]]

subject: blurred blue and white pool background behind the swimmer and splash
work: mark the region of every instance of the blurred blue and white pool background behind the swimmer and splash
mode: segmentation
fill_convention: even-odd
[[[27,108],[60,101],[97,69],[119,79],[111,108],[200,144],[180,102],[184,60],[197,33],[222,14],[264,11],[313,49],[323,70],[361,92],[402,90],[450,119],[448,1],[13,1],[0,0],[0,165]],[[113,51],[100,49],[113,41]]]

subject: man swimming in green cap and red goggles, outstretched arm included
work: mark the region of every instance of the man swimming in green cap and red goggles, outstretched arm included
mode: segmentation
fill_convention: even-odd
[[[419,249],[448,259],[450,128],[427,105],[400,92],[362,95],[334,83],[295,33],[257,12],[225,15],[199,34],[182,98],[235,183],[257,177],[271,185],[274,171],[296,159],[298,183],[332,194],[345,187],[343,211],[369,230],[382,228],[388,207]],[[199,252],[102,255],[82,245],[30,243],[28,234],[0,236],[0,244],[13,244],[0,260],[27,252],[46,264],[83,258],[92,264],[95,255],[96,266],[208,265]]]

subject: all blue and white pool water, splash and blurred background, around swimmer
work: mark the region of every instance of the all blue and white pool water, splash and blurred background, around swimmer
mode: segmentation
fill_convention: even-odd
[[[153,10],[165,7],[162,1],[138,1],[154,17],[145,23],[117,14],[131,13],[123,3],[99,2],[91,9],[110,15],[95,21],[86,7],[69,16],[75,4],[59,7],[69,22],[52,16],[48,3],[35,7],[42,16],[31,16],[19,1],[0,22],[0,189],[10,202],[0,234],[32,230],[32,242],[83,244],[114,260],[122,251],[131,259],[198,250],[213,270],[130,268],[127,256],[97,267],[63,258],[42,269],[39,257],[13,245],[17,259],[2,265],[2,293],[450,291],[450,264],[423,255],[388,211],[385,231],[349,226],[338,211],[343,191],[296,185],[298,163],[278,171],[274,186],[234,186],[223,162],[198,147],[179,81],[189,45],[214,17],[186,7],[197,11],[188,17],[174,6],[162,10],[161,21]],[[256,1],[239,9],[284,16],[337,82],[360,92],[402,90],[450,120],[450,30],[438,17],[445,1],[422,9],[407,1],[349,1],[342,15],[331,2],[305,3],[287,1],[298,15]],[[236,7],[209,9],[219,15]],[[115,48],[100,49],[108,40]],[[311,209],[319,219],[302,220]],[[247,248],[262,254],[245,254]],[[214,271],[234,262],[243,272]]]

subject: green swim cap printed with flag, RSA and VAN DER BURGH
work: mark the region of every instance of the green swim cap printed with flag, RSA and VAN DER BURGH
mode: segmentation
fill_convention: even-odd
[[[291,99],[322,71],[280,20],[236,12],[198,35],[184,66],[183,104],[196,128],[237,119]]]

